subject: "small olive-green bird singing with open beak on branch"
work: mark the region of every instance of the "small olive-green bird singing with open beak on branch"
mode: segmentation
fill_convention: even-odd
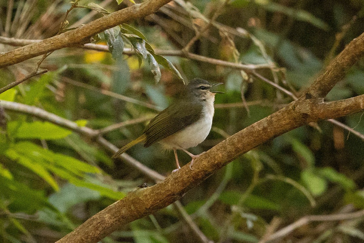
[[[143,134],[122,147],[113,158],[117,158],[137,143],[144,142],[144,147],[158,143],[163,148],[174,151],[177,169],[173,172],[181,168],[177,157],[178,149],[191,156],[192,170],[193,161],[199,155],[193,155],[186,149],[197,146],[209,135],[214,116],[215,94],[223,93],[210,89],[219,84],[222,83],[211,84],[203,79],[191,80],[179,93],[177,100],[155,116]]]

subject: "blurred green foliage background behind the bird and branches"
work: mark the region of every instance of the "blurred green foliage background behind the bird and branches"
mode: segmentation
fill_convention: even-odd
[[[73,9],[67,28],[102,16],[90,9],[95,7],[90,3],[79,2],[89,8]],[[128,0],[120,5],[115,0],[94,3],[108,12],[132,4]],[[70,7],[60,0],[0,0],[1,36],[51,37]],[[133,28],[137,29],[157,52],[181,49],[196,30],[207,28],[191,46],[191,53],[232,63],[271,65],[256,71],[299,96],[346,44],[363,33],[363,13],[360,0],[174,1],[154,15],[128,23],[132,31],[125,33],[135,34]],[[8,31],[7,16],[11,16]],[[211,18],[215,21],[209,24]],[[123,38],[125,47],[131,48],[135,39]],[[98,44],[107,40],[110,37],[104,33],[94,37]],[[14,48],[0,41],[0,52]],[[157,67],[147,60],[139,67],[138,57],[80,48],[58,50],[41,65],[47,73],[0,94],[0,100],[33,105],[94,130],[136,119],[134,124],[102,134],[122,147],[142,134],[148,120],[166,108],[183,85],[162,65],[157,83],[151,72]],[[203,143],[190,149],[194,154],[292,101],[249,73],[179,56],[164,57],[186,82],[199,77],[224,83],[220,90],[225,93],[215,100],[213,129]],[[39,59],[0,69],[0,87],[23,78]],[[326,100],[363,94],[363,80],[361,59]],[[128,102],[124,96],[137,102]],[[364,133],[362,115],[338,120]],[[0,242],[55,242],[138,185],[154,184],[127,163],[112,161],[111,153],[90,138],[17,112],[1,112],[0,120],[4,124],[0,128]],[[207,238],[223,243],[259,242],[273,218],[279,218],[282,227],[305,215],[364,207],[363,140],[327,121],[310,125],[240,156],[184,196],[185,210]],[[173,152],[161,152],[158,146],[139,144],[128,154],[163,175],[175,168]],[[190,161],[185,153],[178,155],[181,164]],[[364,242],[363,226],[363,218],[313,223],[276,242]],[[102,242],[199,240],[169,206]]]

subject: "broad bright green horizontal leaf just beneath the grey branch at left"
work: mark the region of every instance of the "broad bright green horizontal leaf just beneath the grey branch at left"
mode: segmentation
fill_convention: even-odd
[[[17,122],[8,123],[8,129],[13,130],[17,126]],[[16,134],[14,135],[16,138],[22,139],[60,139],[66,138],[70,135],[72,131],[59,127],[50,122],[23,122],[18,128]]]

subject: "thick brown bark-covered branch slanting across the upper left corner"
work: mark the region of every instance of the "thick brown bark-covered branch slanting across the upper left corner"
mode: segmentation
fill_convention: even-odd
[[[64,32],[60,35],[5,52],[0,55],[0,68],[20,63],[32,57],[52,52],[64,47],[72,47],[84,43],[87,38],[96,35],[106,29],[115,27],[133,19],[139,19],[156,12],[160,7],[171,0],[147,0],[142,4],[134,4],[131,7],[111,13],[110,15],[96,19],[77,29]]]

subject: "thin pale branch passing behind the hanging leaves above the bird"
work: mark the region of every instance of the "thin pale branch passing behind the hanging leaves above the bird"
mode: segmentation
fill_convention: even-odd
[[[0,36],[0,43],[12,45],[12,46],[24,46],[24,45],[30,45],[33,43],[40,42],[42,40],[26,40],[26,39],[14,39],[14,38],[8,38],[4,36]],[[100,45],[100,44],[93,44],[88,43],[84,45],[78,45],[74,47],[84,48],[84,49],[90,49],[94,51],[104,51],[108,52],[109,49],[107,45]],[[214,65],[219,65],[222,67],[229,67],[234,68],[238,70],[253,70],[253,69],[260,69],[260,68],[270,68],[271,66],[268,64],[241,64],[241,63],[232,63],[230,61],[223,61],[219,59],[214,59],[211,57],[205,57],[201,55],[197,55],[190,52],[183,52],[182,50],[159,50],[154,49],[155,53],[162,56],[181,56],[185,57],[191,60],[195,61],[202,61],[205,63],[211,63]],[[134,55],[135,51],[133,51],[131,48],[124,48],[123,51],[126,55]]]

